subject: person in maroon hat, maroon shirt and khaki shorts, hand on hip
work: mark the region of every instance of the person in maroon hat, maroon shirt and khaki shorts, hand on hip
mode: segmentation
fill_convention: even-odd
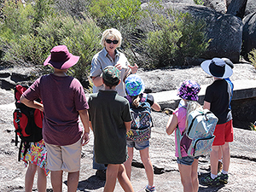
[[[76,191],[81,149],[89,142],[89,106],[84,88],[78,79],[67,75],[68,68],[78,61],[79,56],[69,53],[67,46],[55,46],[44,61],[44,66],[54,67],[54,73],[37,79],[20,98],[26,106],[44,112],[43,138],[54,191],[62,190],[63,171],[68,172],[68,191]],[[36,102],[38,98],[44,104]],[[84,131],[79,125],[79,116]]]

